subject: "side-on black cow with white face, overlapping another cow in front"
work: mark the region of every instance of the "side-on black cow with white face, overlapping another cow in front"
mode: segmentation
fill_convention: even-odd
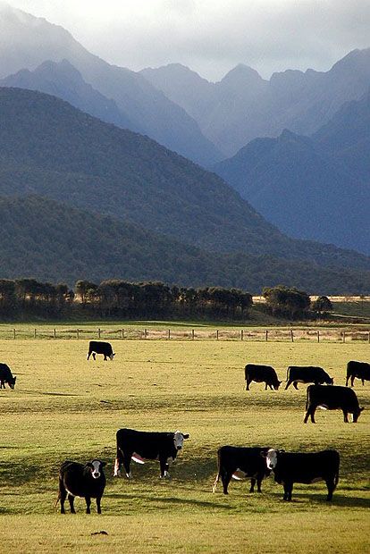
[[[273,470],[276,483],[284,487],[283,500],[291,500],[294,483],[324,481],[328,489],[327,500],[339,481],[340,455],[337,450],[321,452],[285,452],[269,449],[265,457],[267,469]]]

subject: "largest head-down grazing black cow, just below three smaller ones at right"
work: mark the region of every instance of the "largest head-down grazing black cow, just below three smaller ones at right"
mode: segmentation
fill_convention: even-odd
[[[353,423],[356,424],[364,409],[358,406],[356,392],[352,389],[334,385],[332,387],[309,385],[307,387],[306,416],[303,420],[305,424],[307,424],[308,416],[311,416],[311,421],[315,424],[315,410],[317,407],[326,410],[341,409],[346,424],[349,423],[349,414],[353,415]]]

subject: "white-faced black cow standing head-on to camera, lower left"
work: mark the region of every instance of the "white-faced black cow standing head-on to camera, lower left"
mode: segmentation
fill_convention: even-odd
[[[97,499],[97,513],[101,514],[100,500],[105,490],[105,462],[94,459],[83,466],[78,462],[66,460],[59,471],[59,495],[61,514],[65,514],[64,502],[68,496],[71,514],[75,514],[74,497],[79,496],[86,501],[86,513],[90,513],[91,499]]]

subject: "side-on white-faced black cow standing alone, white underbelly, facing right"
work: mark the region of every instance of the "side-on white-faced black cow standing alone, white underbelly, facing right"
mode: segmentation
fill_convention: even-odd
[[[181,450],[185,439],[189,434],[183,432],[147,432],[135,431],[134,429],[119,429],[116,433],[117,438],[117,457],[114,464],[114,477],[121,475],[121,466],[123,464],[128,479],[132,477],[130,473],[131,458],[144,464],[145,459],[159,460],[161,468],[161,477],[169,477],[168,460],[175,459],[179,450]]]

